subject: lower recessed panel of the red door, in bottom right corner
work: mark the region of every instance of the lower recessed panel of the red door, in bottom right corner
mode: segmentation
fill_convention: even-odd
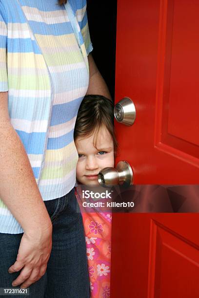
[[[182,235],[151,219],[148,297],[197,297],[198,239]]]

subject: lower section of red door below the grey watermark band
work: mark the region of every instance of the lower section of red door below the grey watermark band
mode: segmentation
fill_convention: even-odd
[[[114,214],[111,297],[199,297],[198,214]]]

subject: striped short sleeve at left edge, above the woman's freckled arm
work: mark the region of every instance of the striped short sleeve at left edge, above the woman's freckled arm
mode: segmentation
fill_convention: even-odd
[[[7,26],[0,12],[0,92],[8,91],[6,48],[7,48]]]

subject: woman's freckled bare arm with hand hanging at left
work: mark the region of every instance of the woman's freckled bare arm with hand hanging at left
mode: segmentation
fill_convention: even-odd
[[[14,284],[28,287],[46,271],[51,252],[52,223],[42,201],[28,156],[8,115],[7,92],[0,92],[0,198],[24,230]]]

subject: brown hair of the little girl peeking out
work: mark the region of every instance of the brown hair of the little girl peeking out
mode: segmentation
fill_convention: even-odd
[[[113,110],[114,105],[112,100],[102,95],[84,96],[77,115],[74,140],[76,141],[79,137],[89,137],[94,133],[94,146],[96,147],[98,132],[100,127],[103,125],[112,136],[114,149],[116,151],[118,143],[114,131]]]

